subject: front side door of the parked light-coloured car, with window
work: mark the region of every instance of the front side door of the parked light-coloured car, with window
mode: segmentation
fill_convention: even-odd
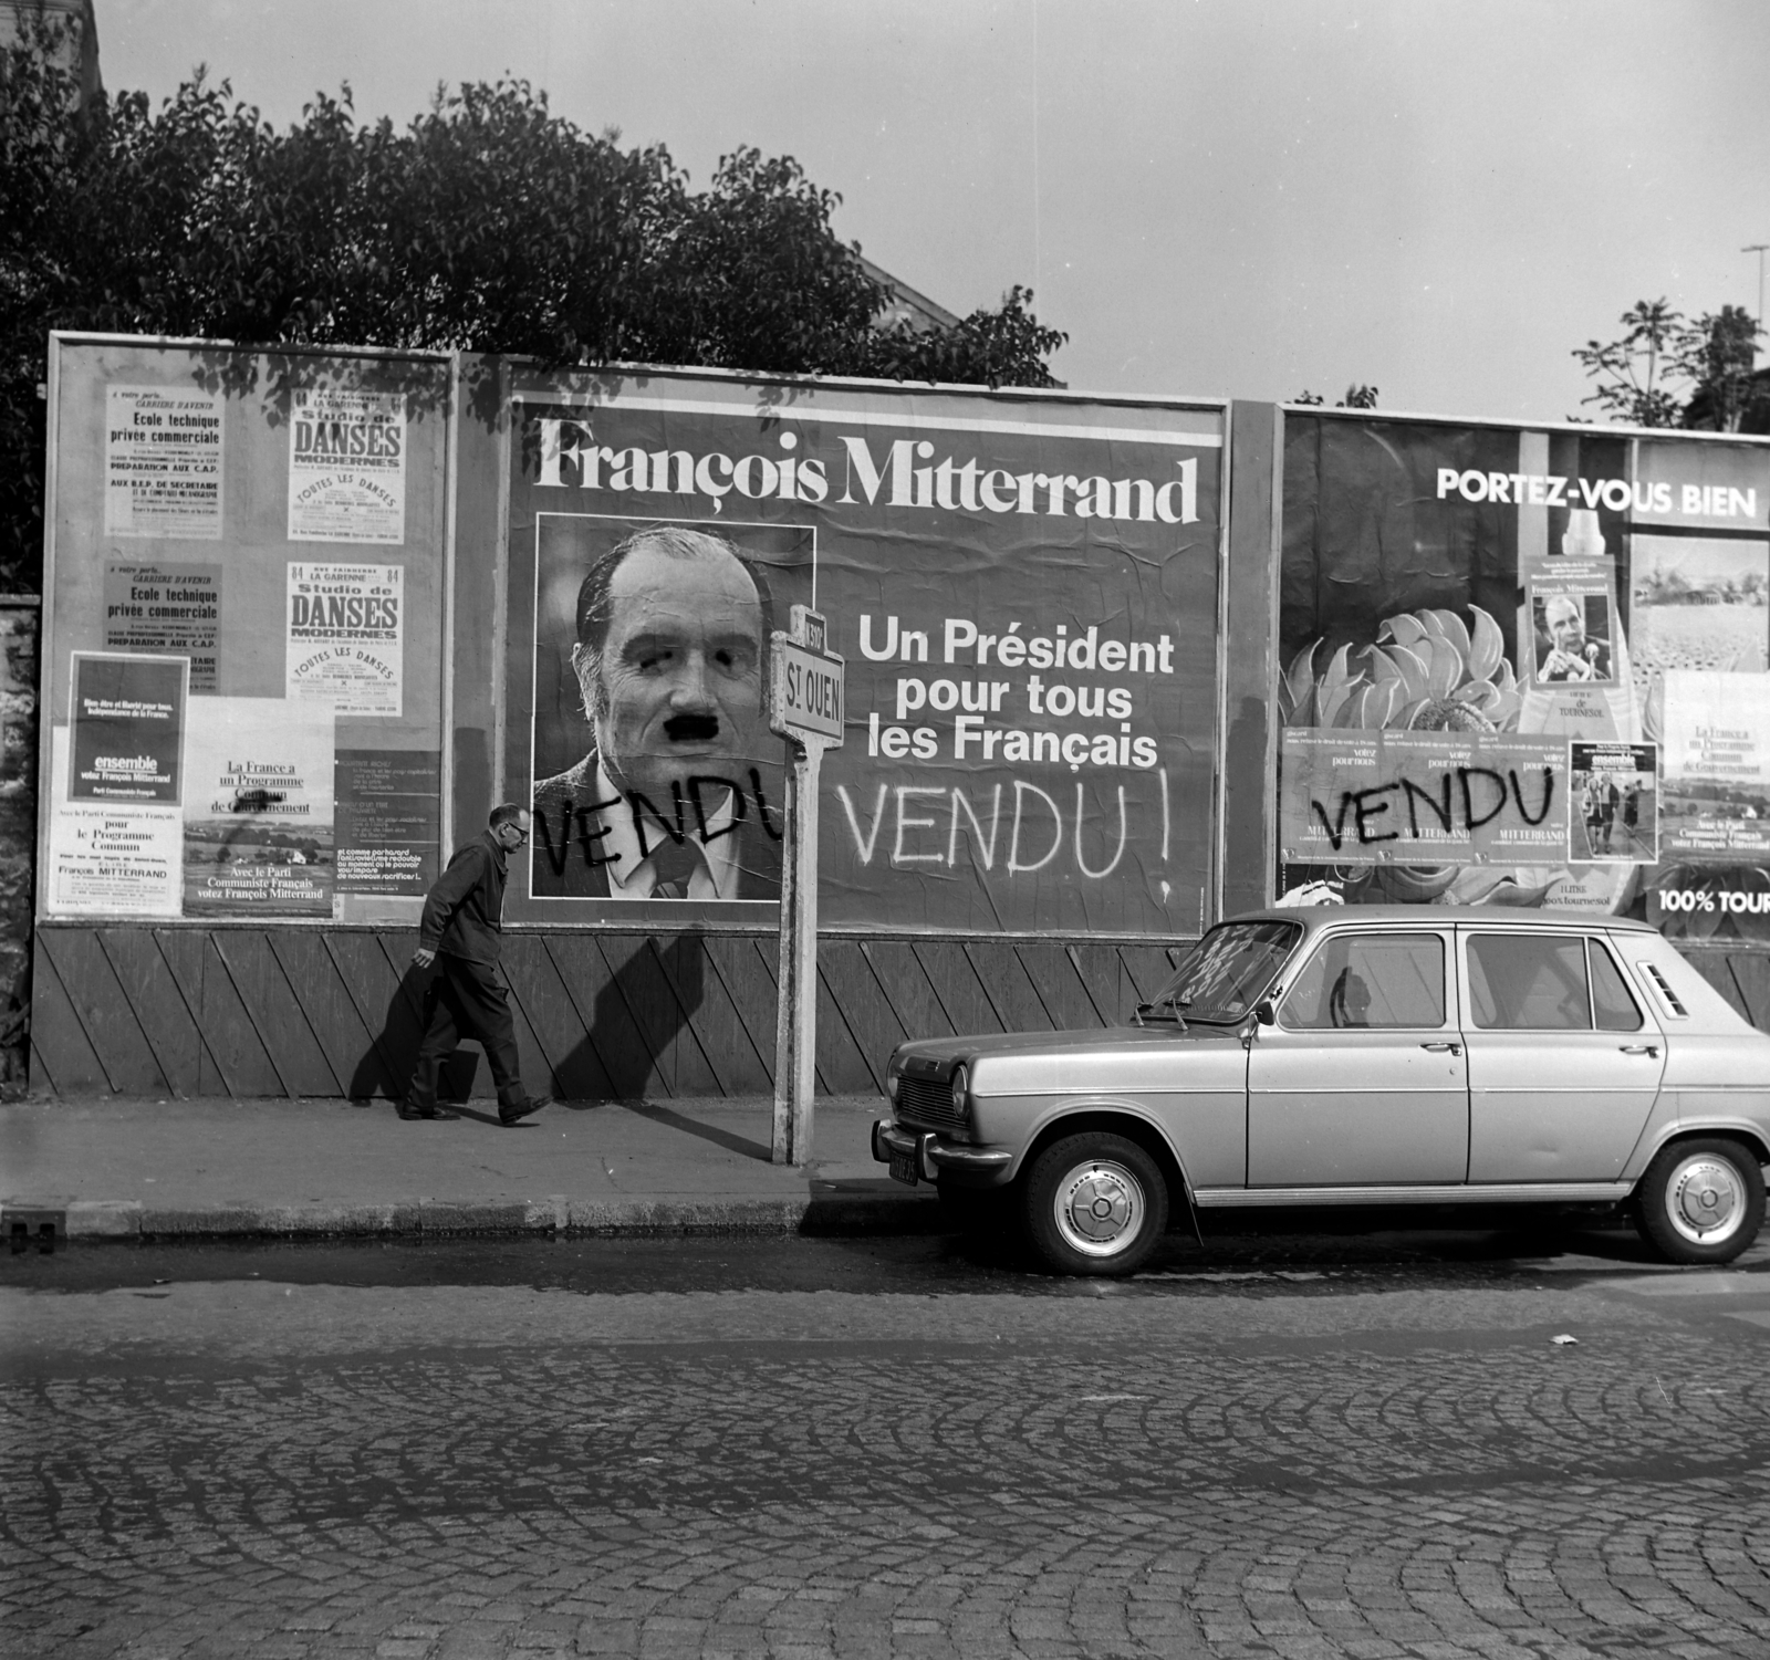
[[[1460,1182],[1469,1087],[1451,929],[1317,941],[1248,1049],[1248,1186]]]

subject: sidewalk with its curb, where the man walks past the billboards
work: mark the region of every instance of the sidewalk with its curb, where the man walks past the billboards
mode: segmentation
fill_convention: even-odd
[[[405,1122],[388,1101],[0,1104],[0,1233],[929,1232],[931,1187],[873,1163],[876,1097],[820,1099],[812,1163],[768,1163],[772,1104],[492,1103]]]

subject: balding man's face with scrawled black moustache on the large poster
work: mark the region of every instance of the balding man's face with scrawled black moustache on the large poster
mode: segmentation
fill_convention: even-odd
[[[763,611],[750,573],[717,543],[681,557],[637,547],[614,573],[584,704],[604,770],[669,811],[671,782],[736,779],[761,720]]]

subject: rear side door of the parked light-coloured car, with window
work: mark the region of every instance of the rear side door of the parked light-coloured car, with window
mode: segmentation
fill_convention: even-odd
[[[1598,934],[1464,927],[1471,1182],[1607,1182],[1658,1095],[1666,1041]]]

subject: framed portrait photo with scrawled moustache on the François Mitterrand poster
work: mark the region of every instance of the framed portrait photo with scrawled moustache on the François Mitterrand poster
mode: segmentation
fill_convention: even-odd
[[[538,517],[531,897],[781,897],[768,639],[814,572],[800,526]]]

